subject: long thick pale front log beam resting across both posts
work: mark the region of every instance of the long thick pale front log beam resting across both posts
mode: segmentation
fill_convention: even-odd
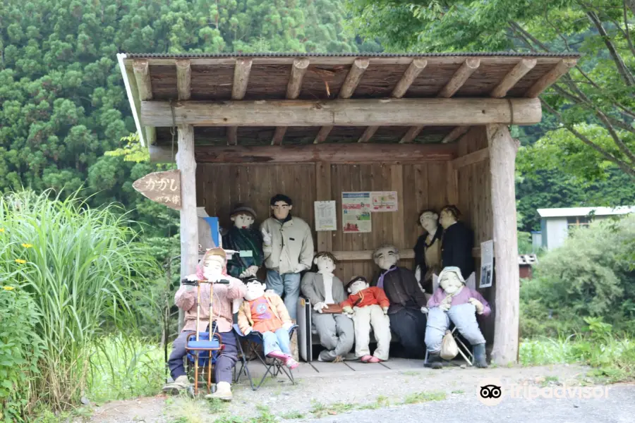
[[[345,99],[179,102],[177,125],[415,126],[540,122],[539,99]],[[141,102],[142,125],[172,125],[169,102]]]

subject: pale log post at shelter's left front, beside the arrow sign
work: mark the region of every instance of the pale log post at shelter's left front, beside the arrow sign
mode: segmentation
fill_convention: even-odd
[[[196,213],[196,161],[194,128],[179,126],[176,167],[181,171],[181,278],[193,274],[198,263],[198,215]],[[179,331],[183,327],[179,312]]]

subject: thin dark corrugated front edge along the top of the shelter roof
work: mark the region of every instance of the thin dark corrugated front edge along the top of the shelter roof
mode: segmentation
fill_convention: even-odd
[[[516,51],[473,51],[460,53],[126,53],[128,59],[206,57],[462,57],[462,56],[511,56],[511,57],[561,57],[579,58],[578,53],[518,53]]]

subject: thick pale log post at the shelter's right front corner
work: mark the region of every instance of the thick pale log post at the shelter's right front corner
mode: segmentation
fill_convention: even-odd
[[[518,356],[518,238],[514,169],[519,143],[506,125],[486,125],[494,219],[495,327],[492,362],[514,363]]]

